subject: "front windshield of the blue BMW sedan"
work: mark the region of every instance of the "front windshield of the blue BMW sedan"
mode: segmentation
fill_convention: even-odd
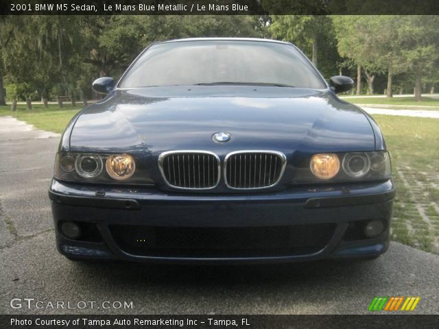
[[[241,84],[326,88],[304,56],[275,42],[197,40],[153,45],[119,87]]]

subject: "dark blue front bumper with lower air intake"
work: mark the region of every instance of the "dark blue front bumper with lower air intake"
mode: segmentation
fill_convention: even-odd
[[[378,256],[388,248],[394,195],[392,180],[235,195],[170,194],[155,187],[57,180],[49,189],[62,254],[155,263]],[[382,221],[385,229],[366,238],[362,227],[372,220]],[[78,223],[84,236],[68,239],[60,232],[64,221]]]

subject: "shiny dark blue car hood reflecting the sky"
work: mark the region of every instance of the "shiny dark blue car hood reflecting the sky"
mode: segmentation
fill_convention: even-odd
[[[175,86],[115,90],[83,110],[71,151],[236,149],[370,151],[375,136],[359,108],[329,90],[261,86]],[[230,143],[212,140],[229,132]]]

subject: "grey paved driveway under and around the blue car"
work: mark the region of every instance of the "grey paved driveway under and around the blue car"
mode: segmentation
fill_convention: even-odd
[[[356,314],[367,313],[375,295],[420,296],[416,313],[439,313],[439,256],[399,243],[362,263],[71,263],[56,252],[47,199],[59,137],[27,128],[0,117],[0,314]],[[70,302],[71,307],[80,301],[119,301],[134,307],[12,309],[12,298]]]

